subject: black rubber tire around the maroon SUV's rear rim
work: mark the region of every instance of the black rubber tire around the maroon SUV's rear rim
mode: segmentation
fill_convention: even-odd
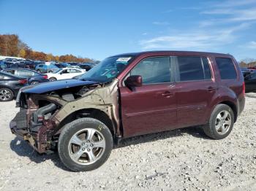
[[[217,122],[217,115],[221,112],[229,112],[230,114],[230,127],[225,133],[219,133],[216,128],[216,122]],[[230,106],[227,106],[225,104],[218,104],[215,106],[213,112],[211,112],[210,120],[206,125],[203,125],[203,131],[206,133],[207,136],[211,137],[212,139],[224,139],[227,137],[231,130],[233,129],[234,125],[234,113],[233,110],[230,108]]]

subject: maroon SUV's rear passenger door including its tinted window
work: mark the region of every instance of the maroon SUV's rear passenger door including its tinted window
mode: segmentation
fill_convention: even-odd
[[[175,58],[173,61],[176,63],[178,125],[186,127],[203,124],[217,88],[211,75],[208,58],[199,56]]]

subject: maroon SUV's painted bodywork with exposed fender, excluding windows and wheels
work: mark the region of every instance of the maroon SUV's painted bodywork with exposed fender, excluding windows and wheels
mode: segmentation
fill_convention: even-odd
[[[37,133],[22,133],[39,152],[50,148],[53,136],[61,132],[64,122],[79,112],[102,112],[106,114],[113,125],[113,137],[118,139],[146,133],[154,133],[174,128],[184,128],[191,125],[204,125],[217,104],[230,104],[233,111],[240,114],[244,109],[243,74],[238,69],[236,60],[231,55],[209,52],[160,51],[139,52],[123,55],[133,55],[134,59],[109,83],[81,81],[79,79],[47,82],[20,90],[20,94],[30,95],[27,98],[27,119],[39,108],[39,100],[57,104],[50,119],[44,120]],[[208,58],[212,70],[211,80],[200,82],[170,82],[159,85],[142,85],[130,89],[124,85],[124,80],[140,61],[149,57],[192,55]],[[122,56],[122,55],[121,55]],[[216,57],[230,58],[237,72],[237,79],[220,79]],[[72,101],[50,95],[55,90],[69,90],[69,87],[90,86],[90,90]],[[209,90],[208,87],[213,87]],[[165,97],[165,92],[169,95]],[[23,96],[25,98],[26,96]],[[62,124],[62,125],[61,125]],[[16,122],[17,125],[17,122]],[[10,127],[15,133],[15,122]],[[17,133],[19,134],[19,133]],[[37,141],[37,144],[35,144]]]

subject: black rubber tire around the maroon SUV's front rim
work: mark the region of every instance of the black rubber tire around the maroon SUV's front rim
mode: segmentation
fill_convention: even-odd
[[[71,157],[72,154],[70,153],[69,149],[69,141],[72,139],[74,135],[76,135],[77,133],[84,129],[97,130],[102,134],[102,136],[104,136],[105,140],[104,151],[101,153],[100,157],[96,161],[94,161],[94,163],[91,164],[80,164],[79,162],[75,162]],[[64,165],[67,166],[67,168],[69,168],[70,170],[92,171],[96,168],[99,168],[99,166],[103,165],[103,163],[105,163],[105,161],[108,160],[112,147],[113,138],[108,127],[99,120],[85,117],[69,122],[67,125],[64,126],[64,129],[61,131],[61,135],[59,136],[58,152],[62,163],[64,163]],[[80,148],[78,148],[78,150],[80,150],[81,148],[83,147],[81,146]]]

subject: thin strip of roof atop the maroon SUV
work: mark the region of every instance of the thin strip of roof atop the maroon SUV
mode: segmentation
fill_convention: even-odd
[[[217,53],[217,52],[197,52],[197,51],[178,51],[178,50],[158,50],[158,51],[145,51],[145,52],[130,52],[130,53],[124,53],[119,55],[113,55],[114,56],[139,56],[139,55],[154,55],[154,54],[172,54],[172,55],[214,55],[214,56],[222,56],[222,57],[231,57],[230,54],[223,54],[223,53]]]

